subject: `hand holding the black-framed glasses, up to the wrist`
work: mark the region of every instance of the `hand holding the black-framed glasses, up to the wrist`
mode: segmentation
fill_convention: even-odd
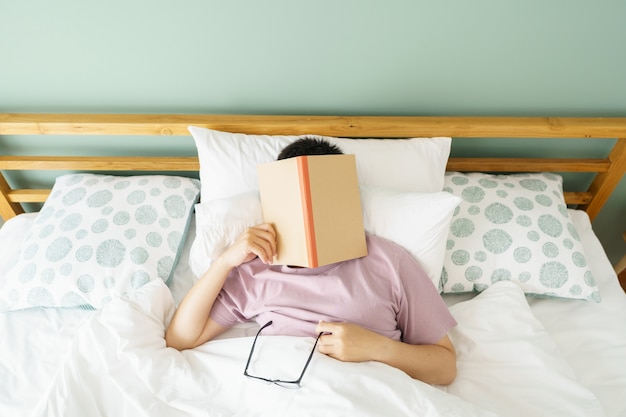
[[[344,362],[375,360],[375,353],[383,346],[384,336],[352,323],[330,323],[321,321],[316,332],[323,334],[318,350]]]

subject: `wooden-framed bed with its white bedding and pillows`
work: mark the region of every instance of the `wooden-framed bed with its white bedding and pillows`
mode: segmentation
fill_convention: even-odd
[[[624,174],[626,119],[0,114],[0,139],[72,135],[196,149],[0,156],[0,415],[626,415],[626,295],[591,226]],[[439,289],[451,385],[319,353],[300,389],[251,381],[252,322],[166,348],[197,275],[259,220],[255,165],[298,135],[356,154],[366,229]],[[602,158],[450,157],[477,138],[615,140]],[[24,186],[34,171],[60,173]],[[589,187],[564,192],[569,172]],[[299,371],[313,342],[261,336],[257,371]]]

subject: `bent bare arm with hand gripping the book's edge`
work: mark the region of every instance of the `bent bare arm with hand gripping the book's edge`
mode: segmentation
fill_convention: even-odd
[[[167,346],[190,349],[213,339],[228,328],[209,317],[230,271],[257,256],[270,263],[276,254],[276,233],[270,224],[251,227],[213,262],[211,268],[183,298],[165,332]]]

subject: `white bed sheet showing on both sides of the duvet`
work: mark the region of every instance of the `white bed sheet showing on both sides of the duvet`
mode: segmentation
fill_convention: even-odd
[[[623,371],[626,369],[626,328],[623,326],[626,296],[586,214],[575,211],[570,214],[585,245],[603,301],[596,304],[531,298],[529,304],[578,380],[599,399],[605,414],[623,416],[626,415],[623,400],[626,397],[626,372]],[[2,236],[11,242],[11,247],[16,246],[15,242],[23,236],[32,218],[32,215],[23,215],[19,221],[5,224]],[[7,225],[12,228],[8,238]],[[185,254],[189,253],[193,230],[192,226]],[[2,260],[0,273],[10,264],[6,258]],[[172,281],[170,290],[175,303],[194,280],[187,261],[183,256]],[[470,297],[445,298],[452,306]],[[0,415],[29,414],[50,387],[59,363],[72,348],[74,335],[89,323],[92,315],[94,312],[84,310],[44,309],[0,314],[0,384],[3,388],[0,390]],[[254,331],[255,326],[243,326],[231,335],[250,335]]]

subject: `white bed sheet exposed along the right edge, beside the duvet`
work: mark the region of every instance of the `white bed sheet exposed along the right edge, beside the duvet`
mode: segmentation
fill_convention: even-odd
[[[570,210],[570,215],[602,302],[529,298],[529,304],[579,381],[598,397],[605,413],[626,416],[626,294],[587,214]]]

